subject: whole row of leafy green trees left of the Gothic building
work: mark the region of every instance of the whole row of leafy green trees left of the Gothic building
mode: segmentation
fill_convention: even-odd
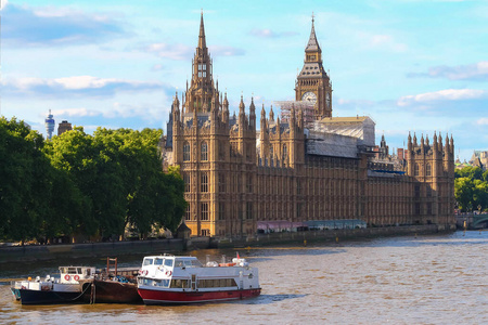
[[[0,120],[0,239],[118,237],[130,225],[176,231],[187,203],[178,170],[163,172],[162,130],[75,128],[51,141]]]

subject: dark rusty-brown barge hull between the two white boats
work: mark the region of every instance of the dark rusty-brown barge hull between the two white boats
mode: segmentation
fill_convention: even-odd
[[[116,281],[82,282],[84,301],[91,303],[141,303],[138,285]]]

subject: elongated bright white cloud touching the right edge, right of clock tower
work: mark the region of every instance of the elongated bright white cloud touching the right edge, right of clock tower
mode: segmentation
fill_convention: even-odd
[[[488,90],[480,89],[446,89],[435,92],[426,92],[416,95],[401,96],[397,101],[398,106],[409,106],[413,103],[428,103],[434,101],[461,101],[476,100],[488,95]]]

